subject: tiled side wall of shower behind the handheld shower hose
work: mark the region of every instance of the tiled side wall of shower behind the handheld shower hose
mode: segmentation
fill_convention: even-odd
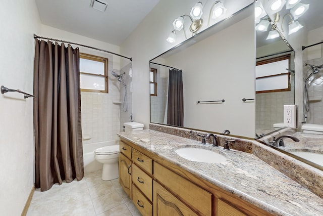
[[[128,109],[126,112],[123,111],[123,103],[124,103],[124,96],[125,96],[125,88],[122,83],[119,83],[119,89],[120,89],[120,131],[123,131],[123,123],[129,122],[130,115],[132,114],[132,63],[129,63],[125,67],[123,67],[120,71],[120,73],[126,72],[126,74],[123,76],[123,80],[127,86],[127,106]],[[126,108],[126,107],[125,107]],[[125,109],[126,110],[126,109]],[[135,120],[135,116],[133,116]]]

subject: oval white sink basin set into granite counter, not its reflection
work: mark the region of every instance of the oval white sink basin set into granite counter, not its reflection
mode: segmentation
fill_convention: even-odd
[[[175,152],[179,156],[191,161],[205,163],[222,163],[227,160],[227,158],[220,153],[200,148],[186,147],[177,149]]]

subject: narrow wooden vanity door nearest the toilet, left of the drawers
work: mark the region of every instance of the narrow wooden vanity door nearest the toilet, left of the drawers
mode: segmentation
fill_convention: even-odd
[[[131,198],[131,160],[123,154],[119,154],[119,183]]]

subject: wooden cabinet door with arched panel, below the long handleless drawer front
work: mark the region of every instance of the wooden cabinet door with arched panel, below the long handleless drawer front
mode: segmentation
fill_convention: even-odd
[[[154,216],[198,215],[155,181],[153,181],[153,200]]]

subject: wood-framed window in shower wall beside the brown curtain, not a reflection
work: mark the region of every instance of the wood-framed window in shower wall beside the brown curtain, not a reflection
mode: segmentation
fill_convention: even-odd
[[[82,92],[107,93],[106,58],[80,53],[80,80]]]

